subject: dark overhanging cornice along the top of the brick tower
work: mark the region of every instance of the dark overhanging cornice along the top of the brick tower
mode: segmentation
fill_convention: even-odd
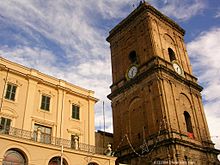
[[[149,3],[141,2],[140,5],[133,12],[131,12],[125,19],[123,19],[118,25],[116,25],[109,32],[109,36],[107,37],[107,41],[109,41],[112,36],[114,36],[118,31],[120,31],[120,29],[127,26],[132,20],[134,20],[136,17],[138,17],[141,13],[151,13],[151,14],[155,15],[157,18],[170,24],[177,31],[179,31],[182,35],[185,34],[185,30],[182,27],[180,27],[175,21],[173,21],[172,19],[170,19],[166,15],[162,14],[156,8],[151,6]]]

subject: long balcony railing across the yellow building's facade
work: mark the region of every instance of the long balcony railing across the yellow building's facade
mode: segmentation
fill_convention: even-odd
[[[48,134],[45,135],[43,133],[39,135],[36,132],[26,131],[14,127],[0,128],[0,134],[21,138],[24,140],[30,140],[36,143],[43,143],[43,144],[54,145],[59,147],[63,146],[64,148],[89,152],[92,154],[103,154],[105,151],[104,148],[99,148],[93,145],[88,145],[85,143],[76,143],[68,139],[56,138]]]

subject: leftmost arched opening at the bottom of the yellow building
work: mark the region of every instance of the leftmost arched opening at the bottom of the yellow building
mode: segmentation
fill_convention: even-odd
[[[2,161],[3,165],[27,165],[26,156],[17,149],[8,150]]]

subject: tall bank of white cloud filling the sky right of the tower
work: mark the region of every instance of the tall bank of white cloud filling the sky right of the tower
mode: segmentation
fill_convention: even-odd
[[[204,109],[213,137],[220,135],[220,28],[203,32],[187,48],[199,81],[203,82]],[[213,138],[220,148],[220,137]]]

